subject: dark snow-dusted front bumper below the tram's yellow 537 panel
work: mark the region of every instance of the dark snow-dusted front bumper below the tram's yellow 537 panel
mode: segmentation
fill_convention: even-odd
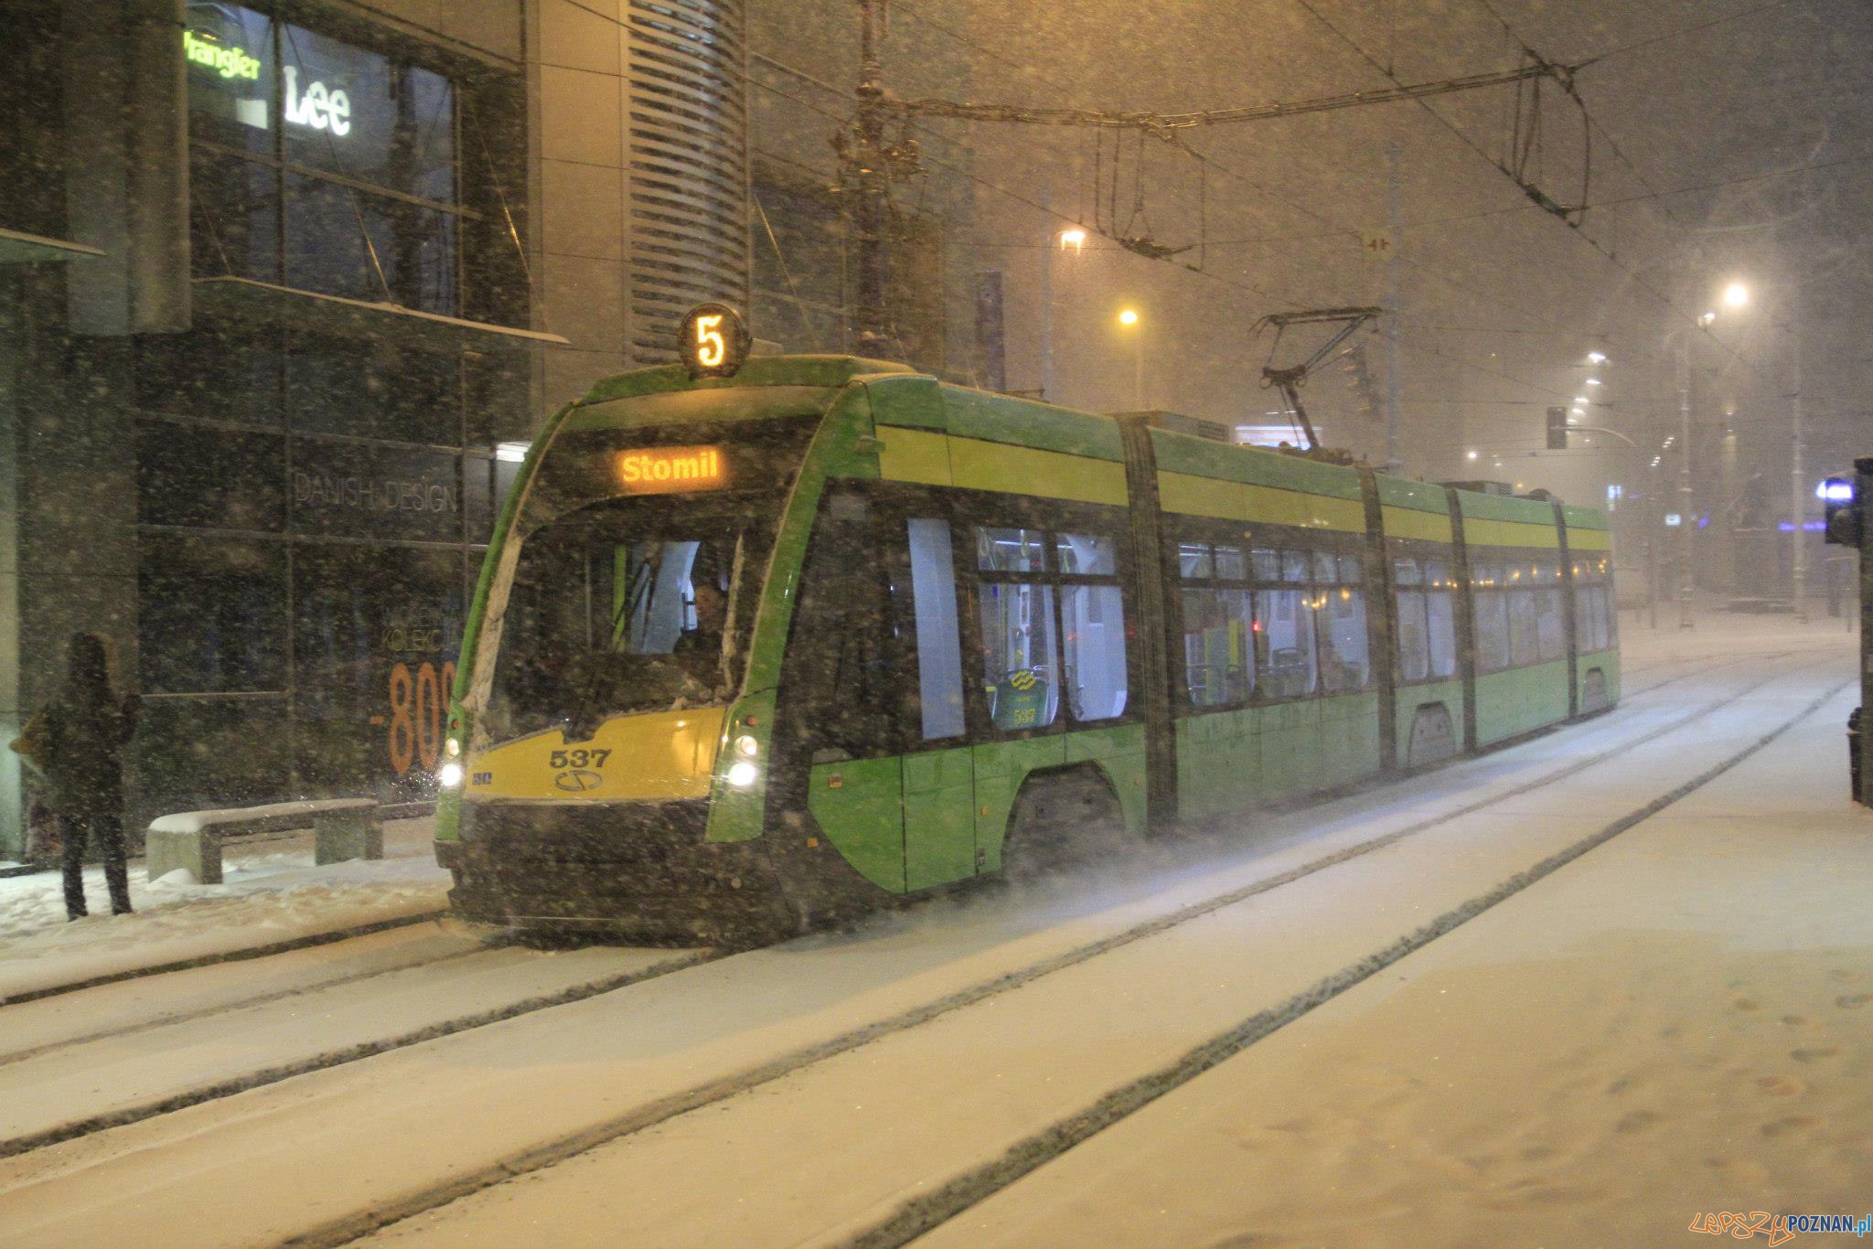
[[[729,940],[798,927],[755,843],[708,843],[704,801],[463,803],[438,841],[468,919],[530,929]]]

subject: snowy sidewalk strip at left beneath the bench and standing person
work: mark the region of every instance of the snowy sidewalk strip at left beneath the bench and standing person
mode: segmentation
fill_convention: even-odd
[[[313,865],[300,833],[227,856],[227,882],[200,886],[176,873],[146,880],[131,863],[137,914],[112,916],[103,871],[84,871],[92,914],[66,921],[60,874],[0,880],[0,1000],[133,968],[273,946],[361,923],[448,908],[450,874],[436,867],[435,820],[384,824],[384,858]],[[101,914],[99,914],[101,912]]]

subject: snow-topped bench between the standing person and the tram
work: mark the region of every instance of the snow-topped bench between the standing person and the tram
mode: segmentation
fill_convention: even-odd
[[[157,816],[144,835],[144,865],[150,880],[184,867],[200,884],[221,884],[221,843],[296,828],[313,830],[315,863],[384,858],[384,818],[375,798],[320,798]]]

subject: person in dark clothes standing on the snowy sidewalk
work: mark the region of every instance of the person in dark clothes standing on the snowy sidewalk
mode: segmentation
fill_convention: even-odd
[[[111,689],[105,644],[75,633],[66,646],[66,683],[13,749],[47,781],[47,805],[60,824],[66,867],[66,918],[84,918],[84,845],[105,863],[112,914],[129,914],[124,865],[124,745],[137,728],[139,698]]]

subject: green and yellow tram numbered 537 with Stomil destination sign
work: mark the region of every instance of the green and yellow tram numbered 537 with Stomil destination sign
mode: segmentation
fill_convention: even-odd
[[[476,590],[455,908],[794,931],[1618,697],[1600,513],[1165,423],[847,356],[596,386]]]

